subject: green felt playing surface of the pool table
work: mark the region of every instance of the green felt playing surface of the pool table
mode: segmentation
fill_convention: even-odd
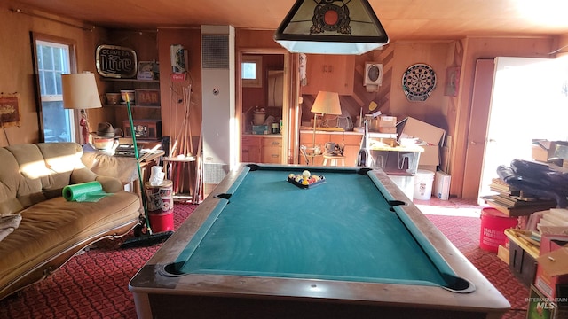
[[[302,170],[290,169],[246,169],[178,256],[177,271],[448,284],[442,274],[451,270],[369,176],[314,169],[327,183],[301,189],[287,178]]]

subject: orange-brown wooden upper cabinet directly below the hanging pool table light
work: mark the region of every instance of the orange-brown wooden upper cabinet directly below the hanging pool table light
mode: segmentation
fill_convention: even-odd
[[[320,90],[352,95],[355,57],[352,55],[309,54],[306,61],[307,85],[302,94],[317,95]]]

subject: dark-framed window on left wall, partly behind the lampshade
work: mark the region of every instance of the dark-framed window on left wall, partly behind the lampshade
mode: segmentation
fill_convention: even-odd
[[[63,108],[61,74],[71,73],[73,45],[35,36],[39,127],[43,142],[75,142],[73,110]],[[75,66],[73,66],[75,68]]]

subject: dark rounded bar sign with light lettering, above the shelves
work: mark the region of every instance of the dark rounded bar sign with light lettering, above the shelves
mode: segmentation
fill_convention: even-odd
[[[138,70],[136,52],[116,45],[99,45],[96,52],[97,72],[111,78],[132,78]]]

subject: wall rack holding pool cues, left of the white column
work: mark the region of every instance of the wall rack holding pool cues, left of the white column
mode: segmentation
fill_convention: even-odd
[[[189,74],[186,74],[189,75]],[[201,183],[201,134],[197,152],[193,152],[190,111],[192,105],[192,80],[185,76],[183,81],[172,81],[170,77],[170,113],[168,156],[163,159],[166,178],[172,181],[172,198],[175,201],[199,204],[202,200]],[[177,127],[179,111],[183,112],[182,122]],[[172,140],[172,136],[174,137]],[[196,155],[200,154],[200,155]]]

